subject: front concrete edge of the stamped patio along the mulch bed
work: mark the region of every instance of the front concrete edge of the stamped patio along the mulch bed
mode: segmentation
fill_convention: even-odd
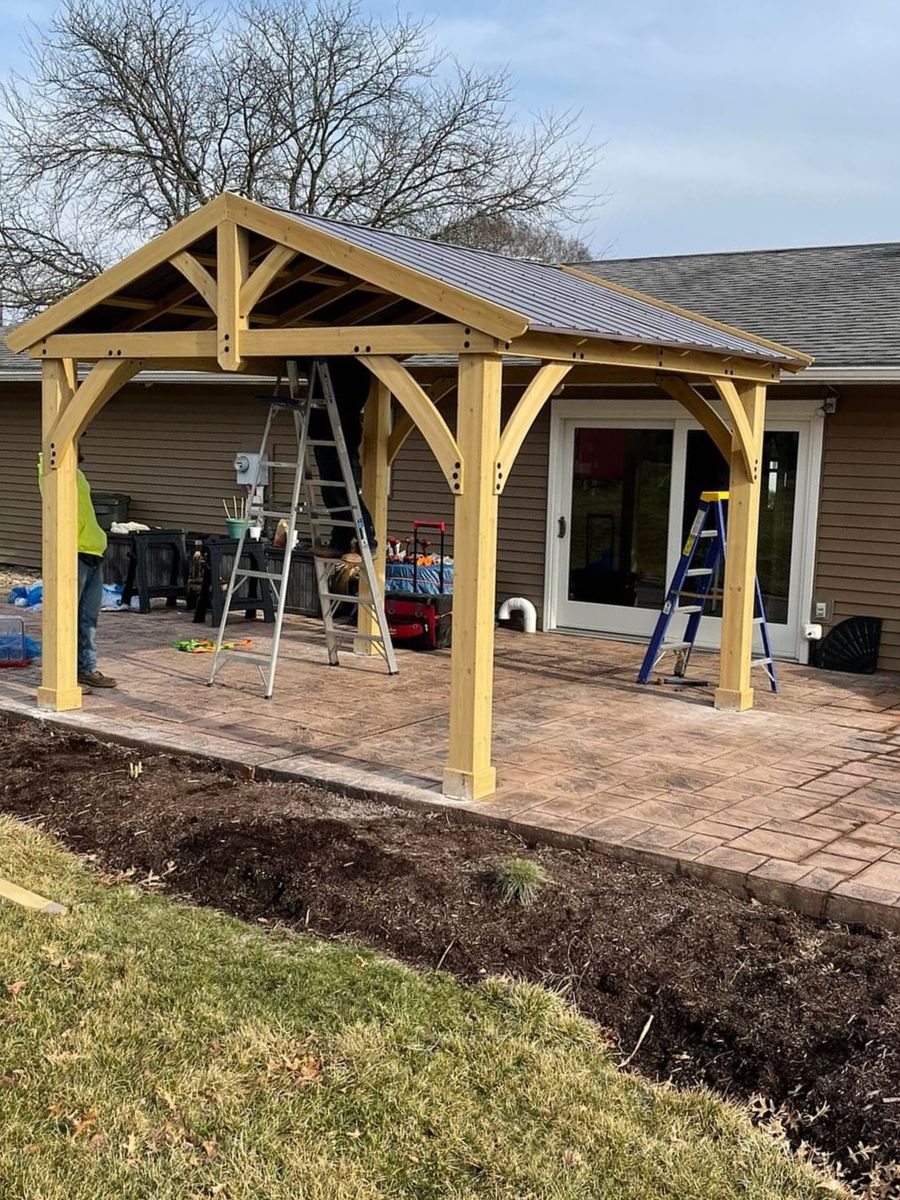
[[[877,896],[877,889],[874,888],[857,887],[856,889],[840,890],[826,886],[815,887],[804,882],[788,882],[776,877],[767,877],[766,874],[758,874],[757,870],[739,870],[716,863],[694,862],[678,858],[674,853],[667,854],[660,850],[629,845],[628,841],[613,841],[583,833],[553,829],[546,824],[532,824],[499,812],[493,815],[490,804],[482,803],[478,808],[473,808],[464,803],[444,799],[434,790],[419,786],[415,782],[415,776],[400,769],[360,770],[358,767],[323,762],[313,755],[284,756],[262,748],[251,749],[240,743],[233,743],[234,750],[223,748],[221,752],[197,750],[190,745],[186,738],[167,737],[158,728],[142,728],[136,726],[133,721],[125,722],[94,714],[88,715],[84,710],[44,713],[38,712],[31,704],[8,697],[0,698],[0,712],[60,730],[89,733],[101,740],[139,750],[182,754],[221,763],[240,770],[248,779],[268,782],[302,782],[343,796],[378,800],[401,808],[425,809],[433,812],[452,811],[463,821],[473,824],[499,826],[526,841],[607,854],[620,862],[641,863],[667,874],[702,880],[743,896],[745,900],[792,908],[817,919],[834,920],[840,924],[871,925],[900,932],[900,905],[883,902]],[[866,895],[866,892],[874,894]]]

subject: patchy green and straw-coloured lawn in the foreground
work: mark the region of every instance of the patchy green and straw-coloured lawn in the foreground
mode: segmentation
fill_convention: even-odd
[[[4,1200],[834,1195],[552,992],[148,895],[1,817],[0,875],[70,905],[0,905]]]

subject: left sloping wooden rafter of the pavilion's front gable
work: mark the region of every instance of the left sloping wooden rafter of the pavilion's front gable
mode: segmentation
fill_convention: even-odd
[[[26,320],[12,330],[6,338],[6,344],[14,352],[25,350],[36,342],[40,342],[41,338],[47,337],[55,330],[74,320],[76,317],[86,312],[88,308],[103,304],[107,296],[121,292],[122,288],[133,283],[134,280],[140,278],[142,275],[145,275],[161,263],[168,262],[178,251],[186,250],[204,234],[215,229],[220,218],[224,216],[224,197],[217,196],[209,204],[204,204],[202,209],[198,209],[197,212],[192,212],[184,221],[179,221],[172,229],[167,229],[166,233],[160,234],[158,238],[154,238],[152,241],[142,246],[140,250],[136,250],[133,254],[128,254],[127,258],[116,263],[115,266],[110,266],[109,270],[103,271],[96,280],[83,284],[70,295],[64,296],[62,300],[50,305],[49,308],[44,310],[37,317],[32,317],[31,320]]]

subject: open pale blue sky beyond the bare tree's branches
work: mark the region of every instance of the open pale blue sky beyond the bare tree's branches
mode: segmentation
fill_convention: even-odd
[[[394,4],[372,0],[390,14]],[[523,116],[605,145],[582,230],[611,257],[900,240],[898,0],[413,0]],[[0,65],[53,4],[0,0]]]

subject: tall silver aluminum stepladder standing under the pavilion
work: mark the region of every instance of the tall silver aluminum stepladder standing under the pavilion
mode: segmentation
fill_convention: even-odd
[[[265,419],[263,440],[259,448],[259,458],[251,490],[251,497],[259,494],[259,481],[266,478],[270,469],[289,469],[293,474],[290,487],[289,508],[278,511],[275,508],[258,508],[251,505],[251,520],[256,517],[269,517],[276,521],[287,521],[287,540],[284,542],[284,556],[277,570],[248,570],[241,566],[244,542],[247,536],[247,524],[241,529],[238,540],[238,548],[234,556],[234,565],[228,581],[222,620],[216,637],[216,649],[212,655],[209,684],[212,684],[216,676],[229,660],[245,659],[253,662],[263,679],[263,695],[269,700],[275,690],[275,672],[278,664],[278,649],[281,646],[281,632],[284,622],[284,606],[288,596],[290,582],[290,562],[296,541],[296,529],[301,517],[305,518],[312,539],[313,563],[316,566],[316,582],[322,606],[322,617],[325,629],[325,643],[328,646],[328,660],[332,666],[340,665],[338,650],[346,642],[370,642],[382,655],[388,667],[389,674],[397,674],[397,660],[394,654],[388,619],[384,613],[384,596],[376,576],[372,550],[368,544],[366,524],[362,518],[356,481],[353,476],[350,458],[347,452],[341,416],[331,385],[331,376],[324,359],[313,359],[307,390],[305,396],[299,396],[300,379],[296,362],[287,364],[289,395],[260,397],[269,406]],[[277,392],[276,386],[276,392]],[[328,418],[328,426],[331,437],[313,438],[310,436],[310,419],[316,410],[324,410]],[[269,456],[272,428],[277,415],[288,412],[296,437],[296,460],[294,462],[276,461]],[[316,450],[329,448],[335,451],[340,464],[340,479],[322,479]],[[323,488],[329,493],[343,492],[344,503],[328,505],[323,497]],[[354,596],[335,590],[334,576],[346,563],[340,558],[320,557],[323,551],[323,535],[335,528],[349,528],[354,530],[354,536],[359,546],[360,584],[365,583],[367,595]],[[317,550],[319,553],[317,554]],[[275,593],[275,624],[272,629],[271,648],[268,653],[257,650],[228,649],[223,646],[226,640],[226,625],[232,612],[232,604],[235,594],[240,592],[246,580],[262,580],[263,586],[269,586]],[[353,605],[358,613],[367,610],[374,618],[377,632],[364,634],[350,626],[335,620],[335,614],[342,605]],[[246,607],[245,601],[240,601],[241,607]]]

